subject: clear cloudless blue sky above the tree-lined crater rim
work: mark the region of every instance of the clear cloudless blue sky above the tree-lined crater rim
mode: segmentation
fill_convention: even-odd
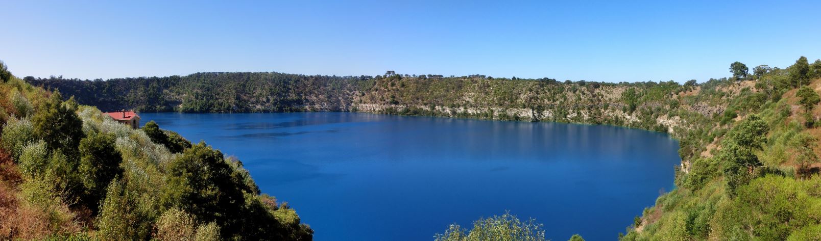
[[[278,71],[593,81],[821,58],[821,1],[6,1],[0,60],[80,79]]]

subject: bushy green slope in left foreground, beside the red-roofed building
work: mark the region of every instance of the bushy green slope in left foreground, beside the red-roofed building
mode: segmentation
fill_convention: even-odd
[[[26,84],[0,62],[0,239],[310,240],[242,163]]]

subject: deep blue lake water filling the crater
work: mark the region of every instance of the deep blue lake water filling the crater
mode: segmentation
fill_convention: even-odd
[[[432,240],[506,210],[614,240],[672,188],[678,143],[603,125],[361,113],[143,113],[239,157],[325,240]]]

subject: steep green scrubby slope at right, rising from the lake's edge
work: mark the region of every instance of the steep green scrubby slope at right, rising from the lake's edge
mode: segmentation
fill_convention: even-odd
[[[821,61],[805,66],[805,57],[786,70],[759,66],[754,81],[723,84],[715,101],[726,111],[704,125],[709,149],[682,152],[677,189],[621,240],[821,239]]]

